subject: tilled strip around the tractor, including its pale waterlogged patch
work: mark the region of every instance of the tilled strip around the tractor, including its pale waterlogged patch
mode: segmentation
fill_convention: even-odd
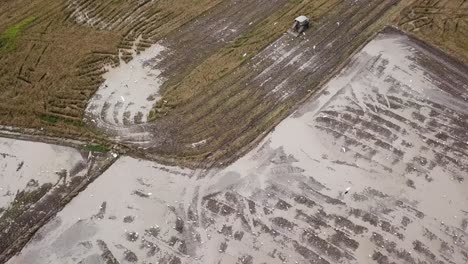
[[[111,77],[101,86],[87,123],[150,157],[232,161],[402,7],[398,0],[267,2],[219,4],[152,46],[154,54],[136,55],[158,87],[140,86],[145,80],[131,76],[144,67],[132,66],[123,77],[132,84]],[[300,38],[283,34],[299,13],[313,18],[312,29]],[[153,94],[127,100],[132,87]]]

